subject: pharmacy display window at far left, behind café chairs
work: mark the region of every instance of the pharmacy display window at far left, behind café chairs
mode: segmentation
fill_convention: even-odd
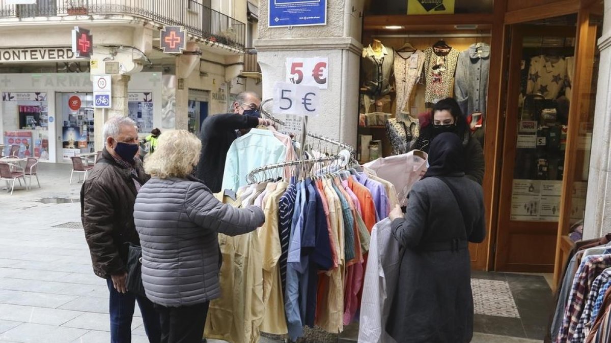
[[[4,155],[18,145],[20,157],[49,159],[49,115],[46,93],[2,93]]]

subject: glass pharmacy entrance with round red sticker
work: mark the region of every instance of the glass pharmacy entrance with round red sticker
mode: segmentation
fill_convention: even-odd
[[[56,93],[57,162],[95,152],[92,93]]]

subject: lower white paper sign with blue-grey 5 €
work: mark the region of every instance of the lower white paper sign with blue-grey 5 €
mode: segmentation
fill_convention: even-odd
[[[288,82],[274,85],[274,113],[316,117],[320,105],[320,89]]]

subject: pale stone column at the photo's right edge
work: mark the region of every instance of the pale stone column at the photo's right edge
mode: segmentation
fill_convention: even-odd
[[[611,232],[611,0],[605,1],[584,239]]]

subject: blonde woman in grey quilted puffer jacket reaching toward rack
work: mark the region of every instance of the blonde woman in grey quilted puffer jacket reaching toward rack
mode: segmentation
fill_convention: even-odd
[[[200,150],[200,140],[188,131],[161,134],[155,154],[144,162],[152,178],[134,207],[142,283],[159,312],[161,342],[202,340],[210,300],[221,295],[218,233],[245,234],[265,222],[260,208],[222,204],[190,176]]]

